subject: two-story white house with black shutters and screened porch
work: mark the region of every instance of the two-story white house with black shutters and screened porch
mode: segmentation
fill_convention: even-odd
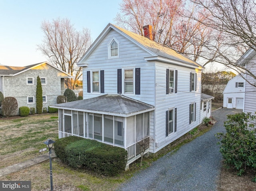
[[[156,153],[200,125],[200,105],[213,98],[201,97],[204,67],[152,41],[151,29],[144,27],[144,37],[106,26],[78,62],[84,100],[52,106],[59,109],[59,138],[122,147],[129,165],[140,158],[138,142],[152,137],[149,151]]]

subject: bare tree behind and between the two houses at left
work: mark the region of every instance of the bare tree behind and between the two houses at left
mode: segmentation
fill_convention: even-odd
[[[73,79],[65,79],[69,89],[74,89],[76,81],[82,75],[82,67],[76,63],[92,44],[90,31],[83,29],[76,31],[68,19],[54,19],[44,21],[41,25],[44,39],[38,49],[49,58],[52,65],[72,75]]]

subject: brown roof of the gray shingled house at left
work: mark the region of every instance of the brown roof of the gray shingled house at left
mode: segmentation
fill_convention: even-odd
[[[66,74],[67,78],[72,78],[72,75],[62,71],[61,69],[55,67],[54,65],[51,65],[48,62],[41,62],[41,63],[32,64],[32,65],[28,65],[28,66],[24,66],[24,67],[0,65],[0,76],[10,76],[10,77],[16,76],[20,73],[23,73],[25,71],[28,71],[30,69],[33,69],[33,68],[38,67],[38,66],[43,65],[43,64],[48,64],[51,67],[54,67],[55,69],[57,69],[58,71],[61,71],[62,73]]]

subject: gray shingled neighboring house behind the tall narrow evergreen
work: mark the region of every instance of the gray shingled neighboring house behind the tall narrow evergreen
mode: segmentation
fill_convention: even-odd
[[[43,108],[48,109],[49,105],[57,103],[58,95],[64,94],[64,79],[72,76],[47,62],[25,67],[0,65],[0,91],[4,97],[15,97],[18,107],[36,108],[38,76],[42,83]]]

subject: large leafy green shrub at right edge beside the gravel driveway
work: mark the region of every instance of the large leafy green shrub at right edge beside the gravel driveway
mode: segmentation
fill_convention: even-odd
[[[226,165],[234,167],[237,175],[241,176],[245,169],[256,169],[256,116],[251,113],[228,115],[224,122],[226,134],[218,133],[221,137],[220,152]],[[254,177],[253,181],[256,181]]]

